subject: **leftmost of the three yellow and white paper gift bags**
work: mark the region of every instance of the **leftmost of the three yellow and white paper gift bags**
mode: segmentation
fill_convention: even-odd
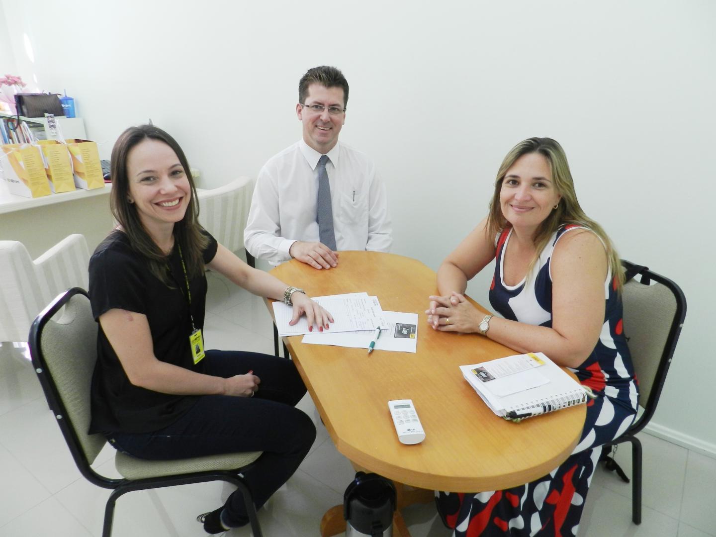
[[[2,150],[4,155],[1,155],[0,167],[9,193],[26,198],[49,195],[49,181],[39,146],[5,144]]]

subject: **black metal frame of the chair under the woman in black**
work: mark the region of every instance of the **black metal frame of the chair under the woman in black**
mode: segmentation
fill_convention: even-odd
[[[77,433],[74,432],[74,426],[69,419],[67,409],[62,402],[62,397],[60,397],[57,387],[49,374],[47,363],[45,362],[42,354],[41,342],[42,329],[45,324],[47,324],[47,321],[52,319],[52,317],[57,314],[57,311],[59,311],[64,304],[67,304],[72,296],[77,294],[87,296],[87,292],[79,287],[68,289],[63,294],[57,296],[57,298],[54,299],[54,301],[52,301],[47,308],[40,312],[30,328],[29,347],[30,354],[32,356],[32,365],[35,368],[35,372],[37,372],[37,377],[39,378],[40,384],[42,384],[42,390],[47,398],[49,407],[52,412],[54,412],[57,425],[59,425],[59,428],[62,431],[64,440],[67,442],[67,446],[69,447],[70,453],[72,453],[72,458],[74,459],[74,463],[77,465],[79,472],[82,473],[84,478],[90,483],[97,485],[98,487],[112,490],[105,507],[105,520],[104,525],[102,526],[102,537],[110,537],[112,534],[112,521],[114,519],[115,503],[117,502],[117,499],[128,492],[132,492],[132,490],[173,487],[175,485],[188,485],[190,483],[204,483],[207,481],[218,480],[231,483],[241,491],[244,505],[246,506],[246,513],[248,513],[248,518],[251,523],[251,531],[253,531],[254,537],[262,537],[261,527],[258,524],[258,516],[256,515],[256,508],[253,505],[251,497],[251,491],[248,490],[248,486],[243,480],[243,475],[241,475],[241,472],[251,468],[251,465],[246,465],[241,468],[237,468],[236,470],[211,470],[139,480],[107,478],[104,475],[95,472],[92,466],[89,465],[87,458],[84,455],[82,445],[77,437]]]

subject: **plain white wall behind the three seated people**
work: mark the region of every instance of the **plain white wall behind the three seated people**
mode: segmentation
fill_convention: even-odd
[[[394,251],[433,269],[483,217],[505,153],[556,138],[621,255],[684,289],[689,313],[654,422],[716,455],[703,337],[716,299],[712,1],[2,5],[13,42],[26,32],[34,47],[34,63],[16,57],[20,74],[66,87],[103,155],[151,117],[210,186],[255,177],[297,140],[299,77],[337,65],[351,84],[342,140],[387,180]],[[470,286],[483,304],[488,281]]]

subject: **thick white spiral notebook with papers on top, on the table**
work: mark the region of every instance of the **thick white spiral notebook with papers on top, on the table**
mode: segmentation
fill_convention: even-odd
[[[541,352],[461,365],[460,371],[485,404],[505,420],[581,405],[590,397],[588,389]]]

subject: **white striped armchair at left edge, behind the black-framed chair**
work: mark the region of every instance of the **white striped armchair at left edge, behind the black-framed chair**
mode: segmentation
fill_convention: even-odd
[[[0,342],[25,342],[33,319],[57,294],[87,289],[89,252],[79,233],[34,261],[22,243],[0,241]]]

